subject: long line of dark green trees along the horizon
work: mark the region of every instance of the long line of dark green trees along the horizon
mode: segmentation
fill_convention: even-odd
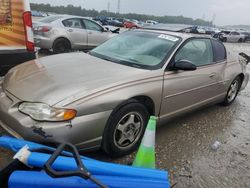
[[[141,21],[155,20],[160,23],[176,23],[176,24],[188,24],[188,25],[201,25],[201,26],[211,26],[211,21],[205,21],[202,19],[192,19],[184,16],[154,16],[146,14],[118,14],[113,12],[108,12],[106,10],[97,11],[95,9],[87,10],[81,6],[51,6],[50,4],[35,4],[31,3],[31,9],[42,12],[53,12],[57,14],[70,14],[84,17],[95,17],[95,16],[108,16],[116,18],[127,18],[136,19]]]

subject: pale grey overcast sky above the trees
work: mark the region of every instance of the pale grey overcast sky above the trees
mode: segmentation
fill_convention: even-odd
[[[216,25],[250,25],[249,0],[120,0],[121,13],[152,14],[157,16],[183,15],[203,18]],[[80,5],[86,9],[117,11],[118,0],[30,0],[32,3]]]

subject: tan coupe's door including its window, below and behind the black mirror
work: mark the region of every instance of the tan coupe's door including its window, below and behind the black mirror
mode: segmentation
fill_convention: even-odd
[[[214,63],[210,39],[190,39],[180,47],[171,63],[191,61],[194,71],[167,70],[161,116],[171,118],[213,101],[219,94],[220,69]]]

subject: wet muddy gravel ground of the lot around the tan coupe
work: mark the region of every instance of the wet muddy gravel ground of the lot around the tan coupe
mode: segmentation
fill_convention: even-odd
[[[227,44],[227,47],[250,54],[250,43]],[[250,85],[229,107],[214,105],[158,128],[157,167],[170,172],[176,188],[250,187],[249,113]],[[217,150],[211,148],[215,141],[221,143]],[[134,154],[115,160],[101,152],[88,155],[123,164],[134,158]],[[0,149],[0,167],[11,156]]]

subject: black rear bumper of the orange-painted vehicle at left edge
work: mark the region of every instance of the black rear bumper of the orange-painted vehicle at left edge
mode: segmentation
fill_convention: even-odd
[[[1,50],[0,51],[0,76],[4,76],[11,68],[36,59],[36,52],[28,52],[25,49],[20,50]]]

